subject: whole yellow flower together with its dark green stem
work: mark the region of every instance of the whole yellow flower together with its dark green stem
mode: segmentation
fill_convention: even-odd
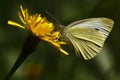
[[[23,25],[20,25],[14,21],[8,20],[9,25],[13,25],[28,31],[28,37],[23,45],[23,49],[17,58],[15,64],[5,77],[5,80],[14,74],[23,61],[30,55],[35,49],[40,40],[45,41],[54,46],[63,55],[68,55],[61,47],[62,44],[66,44],[60,41],[60,32],[55,30],[53,23],[49,22],[46,17],[41,17],[40,14],[29,15],[27,9],[23,9],[20,6],[20,12],[18,13]]]

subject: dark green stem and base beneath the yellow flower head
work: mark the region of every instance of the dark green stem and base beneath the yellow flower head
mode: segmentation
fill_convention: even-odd
[[[39,39],[34,35],[29,35],[27,37],[19,57],[17,58],[15,64],[13,65],[12,69],[9,71],[9,73],[7,74],[4,80],[9,80],[12,77],[15,71],[20,67],[20,65],[28,57],[28,55],[30,55],[35,50],[38,42],[39,42]]]

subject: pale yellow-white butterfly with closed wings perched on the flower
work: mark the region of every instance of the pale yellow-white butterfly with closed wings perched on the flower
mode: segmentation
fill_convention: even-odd
[[[71,43],[77,55],[85,60],[93,58],[102,49],[114,21],[108,18],[90,18],[75,21],[64,27],[61,37]]]

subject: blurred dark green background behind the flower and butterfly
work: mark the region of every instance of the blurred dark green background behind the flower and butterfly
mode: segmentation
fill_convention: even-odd
[[[71,48],[66,49],[70,55],[63,57],[40,42],[11,80],[120,80],[120,0],[1,0],[0,80],[15,63],[27,37],[26,31],[7,24],[7,20],[20,21],[20,4],[32,14],[46,10],[64,25],[92,17],[111,18],[115,25],[94,59],[76,57]]]

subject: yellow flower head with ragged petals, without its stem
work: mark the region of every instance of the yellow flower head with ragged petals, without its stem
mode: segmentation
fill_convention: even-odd
[[[64,55],[68,55],[61,47],[62,44],[66,43],[59,40],[60,32],[54,30],[53,23],[49,22],[45,17],[41,17],[40,14],[36,13],[34,15],[29,15],[27,12],[28,10],[23,9],[22,6],[20,6],[20,9],[21,11],[18,15],[24,26],[11,20],[8,20],[8,24],[27,30],[30,34],[38,37],[40,40],[53,45]]]

